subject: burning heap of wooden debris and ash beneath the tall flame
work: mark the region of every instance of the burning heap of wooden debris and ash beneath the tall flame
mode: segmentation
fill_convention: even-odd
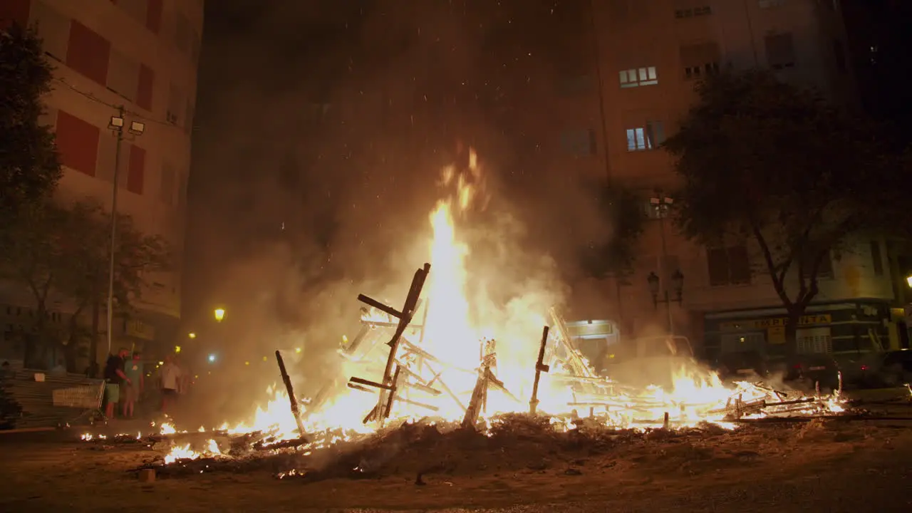
[[[422,347],[423,326],[415,329],[409,323],[420,305],[421,288],[429,271],[430,265],[426,264],[415,273],[402,310],[359,297],[371,309],[366,311],[358,337],[344,348],[344,356],[352,361],[368,361],[367,366],[362,366],[365,369],[379,371],[378,362],[383,362],[384,367],[379,381],[351,377],[347,382],[350,393],[374,398],[358,429],[316,422],[318,414],[338,406],[338,400],[331,405],[327,401],[332,383],[327,383],[314,400],[297,401],[282,354],[276,351],[285,393],[275,393],[266,418],[282,420],[233,429],[224,425],[212,431],[201,427],[196,432],[178,432],[173,424],[162,424],[161,434],[148,437],[139,434],[84,438],[102,444],[148,445],[163,456],[141,468],[157,468],[161,476],[259,469],[279,477],[315,480],[376,476],[402,451],[443,445],[458,445],[471,451],[490,448],[504,436],[525,437],[545,445],[578,443],[581,439],[596,444],[606,436],[617,439],[660,433],[731,432],[739,424],[760,419],[807,420],[846,411],[847,403],[840,390],[804,395],[749,382],[736,383],[732,388],[722,385],[715,376],[706,377],[705,382],[691,378],[689,390],[680,385],[680,390],[671,393],[658,387],[643,390],[614,382],[596,375],[566,336],[565,323],[554,310],[550,312],[552,325],[544,327],[539,341],[538,357],[529,365],[534,381],[530,399],[524,403],[496,374],[496,342],[485,340],[478,366],[468,370],[454,369]],[[378,311],[389,319],[380,319]],[[382,351],[384,344],[379,342],[387,336],[385,345],[389,350]],[[418,340],[410,340],[413,337]],[[378,358],[379,352],[386,352],[385,358]],[[559,400],[549,392],[546,407],[541,399],[545,374],[549,391],[565,391],[558,395]],[[463,384],[464,377],[471,376],[471,391],[451,388],[445,379],[453,375],[462,376]],[[513,409],[489,409],[491,393],[499,393]],[[420,399],[416,397],[419,394]],[[444,403],[458,409],[446,410]],[[416,414],[418,410],[424,410],[423,414]],[[454,415],[454,411],[458,414]],[[436,466],[434,469],[440,470]],[[416,472],[420,474],[422,470]]]

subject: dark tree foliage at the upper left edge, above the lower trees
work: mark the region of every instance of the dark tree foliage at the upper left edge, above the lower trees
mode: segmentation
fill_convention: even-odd
[[[41,125],[53,68],[35,31],[0,30],[0,216],[8,226],[29,204],[43,202],[60,179],[54,132]]]

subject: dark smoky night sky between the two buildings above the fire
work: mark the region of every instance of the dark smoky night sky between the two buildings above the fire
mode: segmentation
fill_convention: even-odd
[[[517,244],[572,270],[575,247],[606,236],[585,184],[544,165],[560,113],[539,98],[588,72],[587,2],[206,8],[185,321],[254,301],[305,322],[316,290],[410,275],[421,262],[399,258],[402,246],[426,232],[460,142],[489,171],[488,215],[523,226]]]

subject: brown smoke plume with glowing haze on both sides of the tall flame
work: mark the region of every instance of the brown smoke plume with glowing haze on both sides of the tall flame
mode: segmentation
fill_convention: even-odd
[[[509,327],[569,297],[575,248],[610,236],[610,222],[572,173],[535,164],[554,160],[548,141],[516,120],[554,113],[516,105],[550,87],[554,63],[538,58],[542,37],[503,32],[546,22],[553,3],[513,15],[471,2],[213,4],[184,270],[186,323],[206,322],[215,303],[229,311],[212,411],[262,399],[277,373],[271,357],[268,370],[254,363],[277,347],[302,348],[295,377],[313,393],[357,330],[358,293],[399,306],[428,258],[428,215],[449,194],[437,181],[457,141],[478,149],[491,178],[491,207],[465,227],[485,324]]]

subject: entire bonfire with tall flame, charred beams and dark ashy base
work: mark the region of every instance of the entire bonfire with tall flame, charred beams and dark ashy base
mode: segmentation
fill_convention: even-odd
[[[145,441],[168,454],[149,465],[160,474],[266,467],[281,476],[368,476],[403,448],[439,451],[440,440],[484,447],[519,431],[540,442],[596,432],[703,434],[751,419],[844,412],[839,390],[805,396],[760,383],[732,387],[711,372],[682,372],[665,388],[616,382],[593,370],[555,309],[539,315],[523,308],[517,322],[482,325],[470,305],[492,301],[468,297],[468,246],[455,223],[473,203],[487,204],[481,177],[471,150],[467,170],[444,170],[441,183],[456,190],[430,215],[435,273],[429,280],[430,264],[416,270],[401,309],[358,297],[365,307],[358,335],[339,350],[342,379],[299,402],[276,351],[285,391],[270,391],[272,401],[252,424],[198,433],[166,424]]]

